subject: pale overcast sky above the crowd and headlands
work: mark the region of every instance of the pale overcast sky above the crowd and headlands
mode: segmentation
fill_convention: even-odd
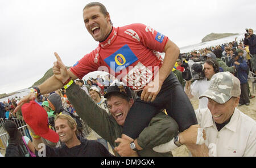
[[[98,42],[85,29],[82,9],[92,1],[0,0],[0,94],[30,87],[53,66],[56,51],[72,66]],[[209,33],[256,29],[255,0],[98,1],[114,27],[143,23],[179,47],[197,44]]]

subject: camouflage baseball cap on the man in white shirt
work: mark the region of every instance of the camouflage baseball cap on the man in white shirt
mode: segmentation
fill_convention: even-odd
[[[230,72],[219,72],[212,76],[210,87],[200,98],[207,97],[219,104],[224,104],[232,97],[241,94],[240,81]]]

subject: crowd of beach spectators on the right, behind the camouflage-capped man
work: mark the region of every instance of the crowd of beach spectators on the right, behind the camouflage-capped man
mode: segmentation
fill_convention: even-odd
[[[249,30],[253,33],[251,29]],[[193,96],[199,98],[200,94],[209,87],[209,80],[212,75],[217,72],[228,71],[232,73],[234,76],[238,77],[241,83],[242,92],[240,95],[239,106],[249,106],[250,98],[254,97],[250,93],[248,83],[249,71],[254,72],[253,63],[251,62],[252,58],[253,55],[250,53],[246,38],[239,42],[235,38],[234,41],[227,44],[211,46],[209,48],[191,51],[190,53],[180,54],[180,58],[177,60],[176,69],[184,72],[185,68],[188,67],[188,60],[192,60],[195,63],[205,62],[202,69],[202,71],[204,70],[204,74],[201,80],[186,81],[185,91],[190,98]],[[211,72],[209,72],[209,65],[212,69]],[[196,68],[198,67],[195,66],[195,71]],[[253,81],[253,83],[255,82],[256,80]],[[207,102],[206,98],[202,98],[199,107],[207,107]]]

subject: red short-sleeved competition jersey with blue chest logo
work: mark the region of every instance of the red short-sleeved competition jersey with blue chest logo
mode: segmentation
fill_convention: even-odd
[[[167,41],[167,36],[144,24],[113,27],[109,37],[70,70],[80,79],[89,72],[105,71],[140,91],[162,66],[158,51],[164,51]]]

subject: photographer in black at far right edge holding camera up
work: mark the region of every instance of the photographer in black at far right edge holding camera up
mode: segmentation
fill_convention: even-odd
[[[253,29],[246,29],[245,33],[245,40],[243,44],[249,45],[250,55],[251,55],[251,62],[253,63],[253,71],[256,73],[256,36],[253,34]],[[254,80],[253,83],[255,83]]]

